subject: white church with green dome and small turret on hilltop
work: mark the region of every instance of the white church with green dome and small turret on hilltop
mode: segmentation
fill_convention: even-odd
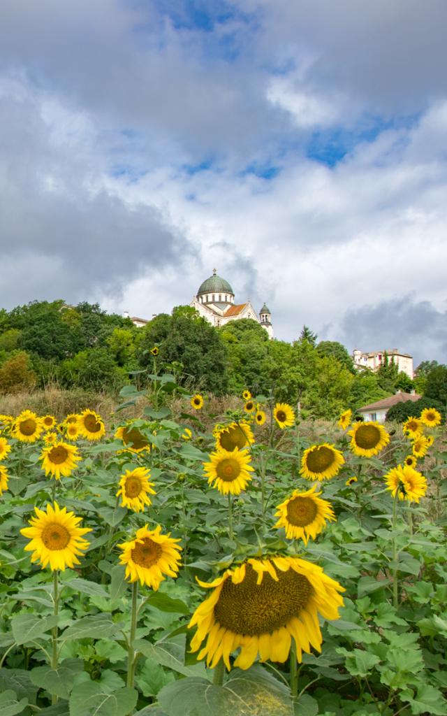
[[[250,318],[265,328],[270,339],[273,338],[273,327],[269,309],[264,304],[259,316],[250,301],[245,304],[235,304],[235,293],[225,279],[217,276],[213,269],[212,276],[200,285],[197,296],[194,296],[190,306],[203,316],[212,326],[225,326],[229,321],[239,321]]]

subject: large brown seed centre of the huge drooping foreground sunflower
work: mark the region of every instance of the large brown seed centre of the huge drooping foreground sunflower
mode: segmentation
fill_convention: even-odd
[[[248,637],[272,634],[298,616],[308,604],[313,587],[308,579],[293,569],[278,571],[278,581],[264,574],[256,584],[257,574],[247,566],[240,584],[227,579],[214,608],[216,621],[235,634]]]

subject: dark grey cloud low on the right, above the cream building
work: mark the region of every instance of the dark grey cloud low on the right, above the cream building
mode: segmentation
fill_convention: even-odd
[[[347,311],[340,334],[351,350],[398,348],[413,355],[415,367],[422,360],[447,361],[447,312],[412,296]]]

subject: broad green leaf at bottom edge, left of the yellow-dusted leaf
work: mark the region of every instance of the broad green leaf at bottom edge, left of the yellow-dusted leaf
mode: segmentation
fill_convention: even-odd
[[[127,716],[137,698],[135,689],[122,688],[109,694],[97,682],[82,682],[70,697],[70,716]]]

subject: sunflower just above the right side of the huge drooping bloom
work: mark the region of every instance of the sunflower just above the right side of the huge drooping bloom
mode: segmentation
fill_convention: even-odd
[[[294,490],[288,500],[277,505],[275,517],[279,517],[279,520],[275,527],[285,528],[285,536],[288,539],[302,538],[307,544],[310,537],[315,539],[325,528],[326,520],[335,520],[330,503],[321,500],[321,492],[315,492],[316,489],[317,486],[314,485],[305,492]]]

